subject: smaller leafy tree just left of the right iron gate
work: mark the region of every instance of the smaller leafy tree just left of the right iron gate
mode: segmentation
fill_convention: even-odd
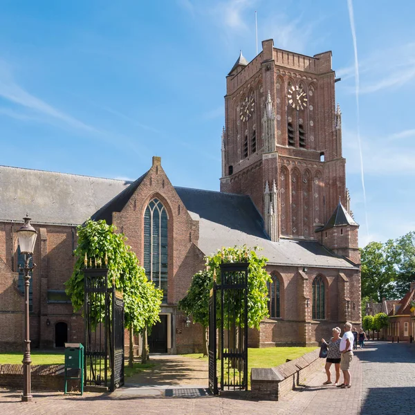
[[[203,327],[203,356],[208,356],[209,294],[213,285],[212,273],[194,274],[187,295],[178,302],[178,308]]]

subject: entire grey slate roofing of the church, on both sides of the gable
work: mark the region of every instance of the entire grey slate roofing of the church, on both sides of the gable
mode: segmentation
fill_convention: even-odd
[[[146,174],[129,182],[0,166],[0,221],[21,221],[26,212],[34,223],[79,225],[90,216],[111,220],[111,212],[122,210]],[[205,255],[246,244],[263,248],[269,264],[356,268],[317,241],[270,241],[249,196],[175,189],[192,219],[199,221],[198,246]]]

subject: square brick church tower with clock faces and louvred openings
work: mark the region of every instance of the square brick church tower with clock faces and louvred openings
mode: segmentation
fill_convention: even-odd
[[[262,48],[226,78],[221,192],[250,195],[273,241],[320,239],[339,198],[349,210],[331,52]]]

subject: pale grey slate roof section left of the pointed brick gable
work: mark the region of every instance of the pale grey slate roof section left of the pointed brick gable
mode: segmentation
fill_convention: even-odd
[[[0,166],[0,221],[80,225],[131,182]]]

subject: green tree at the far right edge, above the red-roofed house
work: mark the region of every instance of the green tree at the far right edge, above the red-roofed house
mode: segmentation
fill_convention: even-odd
[[[415,232],[409,232],[394,241],[391,257],[396,267],[395,298],[402,298],[411,282],[415,282]]]

